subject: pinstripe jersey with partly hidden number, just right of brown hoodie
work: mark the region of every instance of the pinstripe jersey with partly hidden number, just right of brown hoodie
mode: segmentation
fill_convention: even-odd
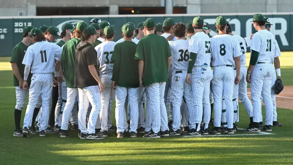
[[[99,75],[104,75],[113,72],[114,62],[111,61],[111,57],[115,45],[116,42],[114,41],[105,41],[96,46],[95,49],[98,53],[98,65],[100,65]]]

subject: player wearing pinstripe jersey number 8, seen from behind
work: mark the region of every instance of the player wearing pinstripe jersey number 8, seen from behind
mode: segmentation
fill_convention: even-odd
[[[226,116],[228,125],[228,134],[233,132],[233,89],[234,84],[239,84],[240,81],[240,55],[242,50],[236,38],[226,34],[226,18],[219,16],[216,19],[216,27],[219,31],[218,35],[211,38],[211,55],[212,66],[214,67],[214,77],[212,79],[212,91],[214,95],[214,118],[215,127],[212,134],[221,134],[221,112],[222,101],[226,105]],[[235,60],[236,77],[234,77],[234,68],[232,67]],[[235,78],[235,80],[234,80]]]

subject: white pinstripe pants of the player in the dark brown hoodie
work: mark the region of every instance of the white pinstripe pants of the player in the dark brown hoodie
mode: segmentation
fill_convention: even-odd
[[[78,111],[78,125],[81,133],[94,134],[96,122],[101,110],[101,95],[98,85],[78,88],[79,92],[79,111]],[[88,106],[91,103],[92,109],[88,119],[88,128],[86,129],[86,114]]]

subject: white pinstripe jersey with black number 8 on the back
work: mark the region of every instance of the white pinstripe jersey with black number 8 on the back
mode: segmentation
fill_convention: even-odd
[[[218,34],[211,38],[212,66],[233,65],[233,57],[242,55],[236,38],[229,34]]]

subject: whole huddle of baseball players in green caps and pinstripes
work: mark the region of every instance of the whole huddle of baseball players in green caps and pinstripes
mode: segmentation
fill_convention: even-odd
[[[281,53],[271,25],[268,18],[255,14],[257,32],[242,38],[219,16],[217,35],[210,38],[209,24],[201,17],[186,24],[148,18],[137,26],[125,23],[117,42],[114,25],[99,18],[89,26],[66,23],[62,32],[55,26],[27,26],[11,56],[16,89],[13,136],[69,137],[68,129],[79,130],[80,139],[104,139],[109,132],[116,132],[117,138],[234,134],[238,97],[250,118],[242,132],[272,131],[272,126],[282,124],[277,122],[273,90],[275,81],[281,80]],[[56,39],[60,40],[54,43]],[[113,100],[116,126],[111,121]],[[211,131],[209,125],[214,125]]]

